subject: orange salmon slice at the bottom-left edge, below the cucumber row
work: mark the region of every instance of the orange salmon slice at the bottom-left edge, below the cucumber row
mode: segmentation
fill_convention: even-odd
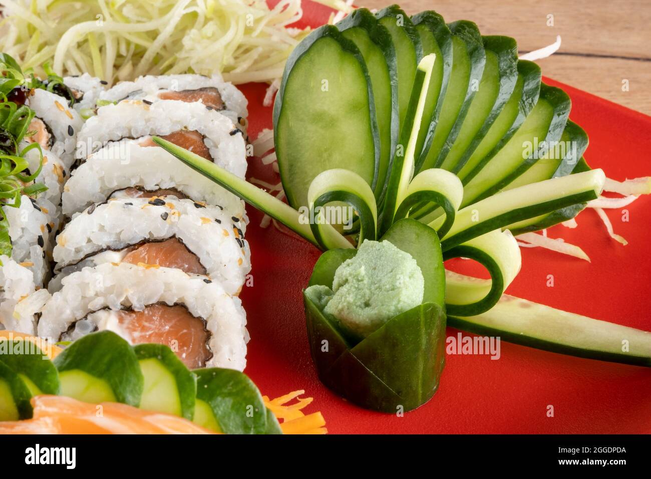
[[[126,404],[63,396],[35,396],[31,403],[33,418],[0,422],[0,434],[215,434],[187,419]]]

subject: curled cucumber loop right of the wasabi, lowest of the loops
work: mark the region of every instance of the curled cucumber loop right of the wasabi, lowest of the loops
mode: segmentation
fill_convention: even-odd
[[[518,242],[510,231],[496,229],[443,252],[443,261],[471,258],[488,270],[482,280],[446,270],[445,309],[449,315],[472,316],[490,310],[518,275],[522,261]]]

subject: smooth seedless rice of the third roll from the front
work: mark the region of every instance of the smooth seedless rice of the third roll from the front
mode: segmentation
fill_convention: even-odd
[[[158,147],[141,147],[137,141],[111,143],[72,171],[64,186],[62,211],[66,216],[102,203],[118,190],[140,186],[152,191],[175,188],[182,194],[219,205],[233,216],[244,216],[244,203],[208,178]]]

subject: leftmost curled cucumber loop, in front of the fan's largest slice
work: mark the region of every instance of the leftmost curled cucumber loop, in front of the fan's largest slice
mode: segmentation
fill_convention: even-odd
[[[309,217],[314,219],[310,222],[310,228],[323,250],[341,248],[339,238],[331,234],[334,229],[329,220],[332,218],[324,218],[323,214],[327,203],[333,201],[342,201],[355,210],[360,224],[359,244],[365,239],[376,239],[378,209],[373,190],[365,179],[350,169],[335,168],[319,173],[310,184],[307,200],[310,205]],[[344,221],[343,213],[336,216],[341,222]],[[352,215],[348,220],[352,222]],[[339,233],[337,236],[341,237]]]

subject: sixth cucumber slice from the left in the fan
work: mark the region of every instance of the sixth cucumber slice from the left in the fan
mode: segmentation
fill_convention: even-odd
[[[441,168],[458,173],[484,139],[518,81],[518,45],[508,36],[484,36],[486,65],[454,146]]]

